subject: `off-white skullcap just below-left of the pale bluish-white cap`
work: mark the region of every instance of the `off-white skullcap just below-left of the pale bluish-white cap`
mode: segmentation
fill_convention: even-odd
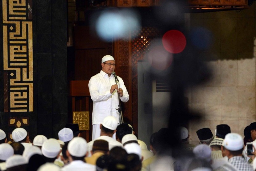
[[[60,144],[54,138],[44,141],[42,145],[42,153],[45,157],[55,158],[60,153]]]

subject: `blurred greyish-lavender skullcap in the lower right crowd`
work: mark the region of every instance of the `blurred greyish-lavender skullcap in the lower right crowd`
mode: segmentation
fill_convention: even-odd
[[[200,144],[193,149],[193,153],[199,159],[211,161],[212,150],[208,145]]]

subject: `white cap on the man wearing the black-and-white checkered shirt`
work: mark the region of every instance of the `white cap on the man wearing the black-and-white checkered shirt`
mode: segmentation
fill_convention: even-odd
[[[238,133],[228,133],[225,136],[222,146],[230,151],[237,151],[244,147],[244,141],[242,136]]]

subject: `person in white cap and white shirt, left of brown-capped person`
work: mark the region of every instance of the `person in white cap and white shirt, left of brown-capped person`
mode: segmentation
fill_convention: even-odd
[[[68,143],[68,150],[66,151],[69,164],[65,165],[62,171],[95,171],[96,166],[84,162],[87,156],[87,142],[82,137],[75,137]]]

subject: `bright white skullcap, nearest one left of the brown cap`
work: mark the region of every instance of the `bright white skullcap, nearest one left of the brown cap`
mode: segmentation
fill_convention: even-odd
[[[84,157],[87,152],[87,142],[82,137],[75,137],[68,143],[68,153],[74,157]]]

